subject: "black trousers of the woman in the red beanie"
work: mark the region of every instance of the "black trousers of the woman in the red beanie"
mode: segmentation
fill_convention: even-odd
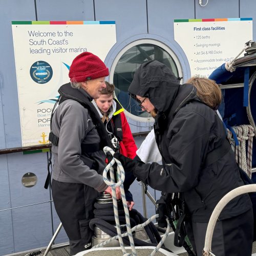
[[[70,242],[70,255],[92,247],[94,202],[99,196],[94,188],[78,183],[52,180],[52,197],[58,217]]]

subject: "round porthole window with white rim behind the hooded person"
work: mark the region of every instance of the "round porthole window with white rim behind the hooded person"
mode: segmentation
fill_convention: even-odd
[[[148,60],[158,60],[181,77],[181,66],[178,58],[166,45],[153,39],[141,39],[123,48],[116,56],[110,78],[115,85],[115,94],[123,108],[136,121],[148,121],[148,113],[142,111],[136,101],[128,94],[128,88],[133,80],[135,71]],[[151,117],[152,118],[152,117]],[[153,119],[153,118],[152,118]]]

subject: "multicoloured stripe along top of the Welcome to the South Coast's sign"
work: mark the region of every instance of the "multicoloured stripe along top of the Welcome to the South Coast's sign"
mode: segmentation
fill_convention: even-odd
[[[68,21],[57,21],[57,20],[52,20],[52,21],[16,21],[13,20],[12,21],[12,25],[92,25],[92,24],[116,24],[115,21],[113,20],[100,20],[100,21],[88,21],[88,22],[84,22],[81,20],[68,20]]]

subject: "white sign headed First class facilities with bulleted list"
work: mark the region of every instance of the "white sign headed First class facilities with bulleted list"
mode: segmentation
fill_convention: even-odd
[[[191,76],[208,77],[252,40],[252,18],[175,19],[174,38],[187,56]]]

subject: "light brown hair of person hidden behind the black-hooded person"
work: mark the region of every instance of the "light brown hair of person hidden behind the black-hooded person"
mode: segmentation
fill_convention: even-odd
[[[211,79],[194,76],[186,83],[193,84],[197,88],[197,96],[210,108],[217,110],[221,103],[222,94],[218,84]]]

